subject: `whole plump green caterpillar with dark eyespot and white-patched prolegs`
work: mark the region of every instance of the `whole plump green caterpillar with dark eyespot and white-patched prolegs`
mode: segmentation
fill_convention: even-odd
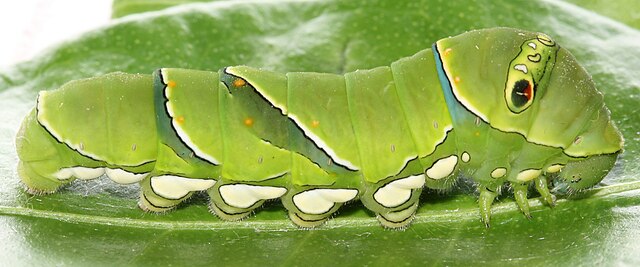
[[[529,217],[530,188],[552,206],[552,180],[594,186],[623,142],[566,49],[492,28],[345,74],[232,66],[71,81],[39,93],[16,149],[32,194],[106,174],[139,183],[145,211],[206,190],[223,220],[280,199],[310,228],[360,200],[382,226],[404,228],[425,187],[459,177],[477,185],[487,226],[504,188]]]

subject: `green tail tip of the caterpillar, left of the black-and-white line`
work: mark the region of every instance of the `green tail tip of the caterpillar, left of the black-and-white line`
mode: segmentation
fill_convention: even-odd
[[[29,194],[53,193],[73,180],[58,175],[59,166],[66,160],[56,145],[58,142],[38,123],[36,111],[32,110],[16,135],[18,175]]]

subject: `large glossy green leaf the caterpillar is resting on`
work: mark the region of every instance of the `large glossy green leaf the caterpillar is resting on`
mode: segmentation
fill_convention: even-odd
[[[572,51],[627,140],[599,188],[555,208],[532,199],[532,220],[504,196],[485,229],[464,183],[447,194],[426,192],[406,231],[382,229],[357,203],[309,231],[275,202],[230,223],[208,213],[203,195],[175,212],[147,214],[136,208],[137,186],[98,179],[30,196],[16,174],[13,139],[37,91],[72,79],[239,64],[343,73],[495,26],[542,31]],[[634,28],[558,1],[217,1],[114,20],[0,72],[0,255],[20,265],[640,264],[639,39]]]

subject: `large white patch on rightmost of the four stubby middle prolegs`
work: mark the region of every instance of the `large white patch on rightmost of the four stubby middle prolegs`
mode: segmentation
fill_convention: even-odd
[[[424,174],[398,179],[378,188],[373,194],[373,199],[382,206],[397,207],[407,202],[411,198],[411,191],[422,188],[424,182]]]

